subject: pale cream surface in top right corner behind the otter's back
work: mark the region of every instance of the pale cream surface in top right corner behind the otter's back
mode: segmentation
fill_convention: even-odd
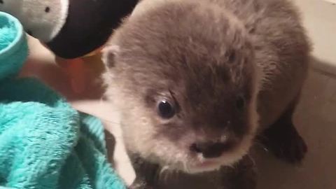
[[[323,0],[294,1],[303,13],[304,26],[313,41],[313,55],[318,59],[314,66],[336,73],[336,5]]]

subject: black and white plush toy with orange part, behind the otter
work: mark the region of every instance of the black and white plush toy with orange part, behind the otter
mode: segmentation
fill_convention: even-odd
[[[25,31],[56,55],[76,92],[85,86],[84,65],[139,0],[0,0],[0,11],[22,22]],[[84,58],[82,58],[84,57]],[[95,62],[102,64],[102,62]]]

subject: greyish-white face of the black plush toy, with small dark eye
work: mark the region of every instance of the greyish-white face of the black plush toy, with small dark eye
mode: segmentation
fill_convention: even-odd
[[[0,10],[14,15],[31,36],[48,42],[62,29],[69,0],[0,0]]]

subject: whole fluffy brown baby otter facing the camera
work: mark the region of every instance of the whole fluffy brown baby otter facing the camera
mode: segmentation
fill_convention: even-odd
[[[307,147],[292,115],[309,52],[287,0],[141,1],[104,52],[133,188],[165,188],[155,177],[162,169],[199,176],[239,167],[258,138],[300,162]],[[241,170],[234,175],[250,173]],[[206,188],[254,188],[213,178]]]

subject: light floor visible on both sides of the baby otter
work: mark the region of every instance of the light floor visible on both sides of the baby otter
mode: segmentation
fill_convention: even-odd
[[[295,113],[295,125],[309,146],[300,167],[286,165],[272,155],[256,158],[260,189],[334,189],[336,188],[336,6],[335,0],[295,0],[302,9],[304,25],[314,41],[314,57],[302,99]],[[82,95],[69,90],[69,80],[53,63],[53,57],[38,41],[29,38],[31,55],[22,76],[37,76],[64,94],[73,106],[101,118],[116,135],[116,166],[127,183],[134,179],[118,120],[113,109],[99,97],[102,91],[87,90]]]

